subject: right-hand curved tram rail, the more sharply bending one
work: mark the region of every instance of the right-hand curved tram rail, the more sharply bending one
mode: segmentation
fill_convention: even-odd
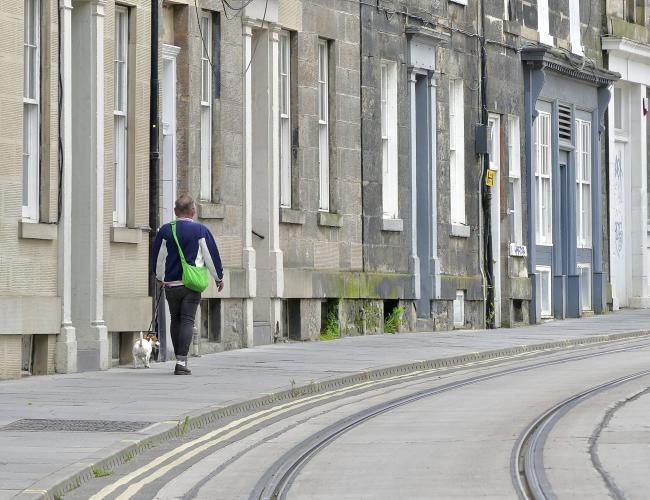
[[[555,424],[571,409],[589,398],[619,385],[650,375],[650,370],[627,375],[575,394],[537,417],[517,440],[512,453],[511,473],[519,498],[553,499],[551,484],[544,472],[544,445]]]

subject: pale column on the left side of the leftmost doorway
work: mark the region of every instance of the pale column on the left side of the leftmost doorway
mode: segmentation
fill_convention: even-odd
[[[58,286],[61,297],[61,330],[56,342],[57,373],[77,371],[77,338],[72,326],[72,0],[62,0],[60,9],[61,36],[61,137],[63,158],[61,172],[61,213],[59,214]]]

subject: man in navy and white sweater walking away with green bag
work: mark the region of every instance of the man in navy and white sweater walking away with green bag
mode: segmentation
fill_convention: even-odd
[[[201,293],[183,285],[183,267],[178,247],[182,249],[188,264],[208,268],[217,282],[219,291],[223,290],[223,266],[212,233],[203,224],[193,220],[196,216],[196,207],[192,197],[186,194],[179,196],[174,213],[176,221],[164,224],[156,235],[153,245],[153,264],[156,279],[165,289],[171,314],[170,333],[176,355],[174,375],[191,375],[192,372],[187,366],[187,354],[192,343],[194,321]]]

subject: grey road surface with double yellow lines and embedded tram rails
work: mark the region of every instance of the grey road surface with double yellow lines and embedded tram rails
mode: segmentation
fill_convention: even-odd
[[[517,498],[513,449],[526,427],[649,361],[647,340],[619,342],[307,396],[188,433],[65,498],[271,498],[287,470],[290,499]],[[647,498],[648,387],[641,376],[558,419],[540,459],[552,494]]]

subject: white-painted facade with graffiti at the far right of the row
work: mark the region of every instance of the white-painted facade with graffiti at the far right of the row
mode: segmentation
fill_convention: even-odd
[[[645,308],[650,307],[650,3],[610,0],[605,5],[604,61],[621,75],[607,113],[612,307]]]

